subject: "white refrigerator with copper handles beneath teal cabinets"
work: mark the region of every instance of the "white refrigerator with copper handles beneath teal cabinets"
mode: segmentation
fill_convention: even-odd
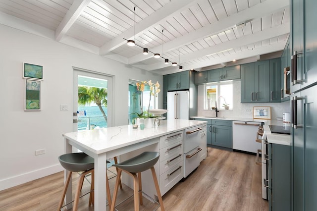
[[[167,93],[167,119],[189,119],[189,91]]]

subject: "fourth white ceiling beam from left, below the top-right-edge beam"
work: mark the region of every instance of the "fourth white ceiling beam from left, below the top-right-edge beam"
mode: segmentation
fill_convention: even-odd
[[[235,48],[239,48],[241,46],[245,46],[248,44],[252,44],[252,43],[257,43],[257,42],[261,42],[263,40],[267,40],[272,38],[272,35],[274,37],[277,36],[281,36],[284,34],[289,33],[289,25],[288,24],[282,24],[279,26],[275,26],[273,28],[269,28],[266,29],[265,31],[259,31],[235,40],[231,40],[231,41],[227,41],[215,46],[211,46],[209,48],[206,49],[202,49],[193,53],[188,53],[185,55],[181,56],[181,59],[183,61],[188,61],[188,60],[192,60],[195,58],[200,58],[206,55],[211,55],[213,53],[219,53],[219,52],[223,52],[226,51],[228,49],[235,49]],[[171,61],[177,61],[178,57],[174,57],[174,58],[170,58]],[[170,65],[170,64],[168,64]],[[156,70],[156,69],[160,69],[160,68],[164,68],[167,65],[164,64],[163,62],[158,62],[152,65],[147,65],[147,70]]]

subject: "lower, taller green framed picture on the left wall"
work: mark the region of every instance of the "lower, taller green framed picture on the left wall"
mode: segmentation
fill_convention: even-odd
[[[41,81],[24,79],[24,110],[41,110]]]

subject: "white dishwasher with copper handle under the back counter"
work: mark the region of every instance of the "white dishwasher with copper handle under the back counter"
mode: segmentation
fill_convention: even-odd
[[[256,142],[256,135],[261,122],[232,121],[232,149],[257,153],[261,143]]]

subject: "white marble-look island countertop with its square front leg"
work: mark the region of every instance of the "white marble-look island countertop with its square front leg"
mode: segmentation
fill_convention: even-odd
[[[124,155],[142,148],[159,152],[160,137],[174,134],[180,137],[185,129],[205,125],[206,121],[172,119],[160,121],[159,127],[144,130],[123,125],[96,130],[85,130],[64,134],[65,153],[72,153],[73,147],[95,159],[95,210],[106,209],[106,159]],[[183,149],[183,148],[181,148]],[[157,176],[158,176],[158,170]],[[65,170],[65,178],[67,175]],[[183,175],[183,174],[182,174]],[[159,176],[158,176],[159,178]],[[71,185],[66,193],[66,204],[71,201]],[[160,187],[161,188],[161,187]],[[67,207],[70,209],[70,206]]]

